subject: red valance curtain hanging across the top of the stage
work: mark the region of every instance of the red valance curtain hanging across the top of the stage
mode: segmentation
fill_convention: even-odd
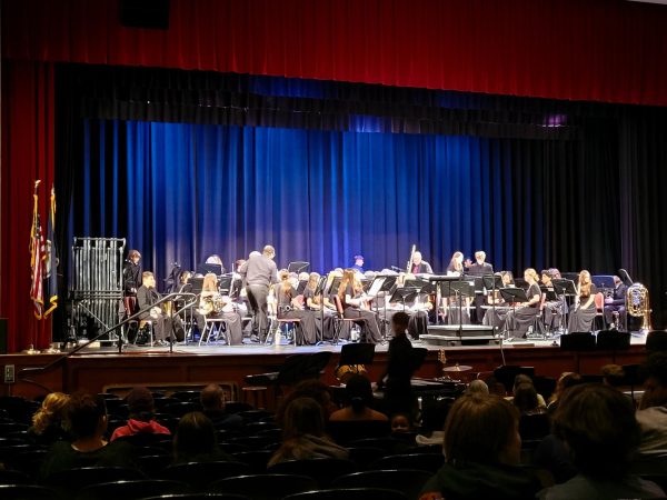
[[[4,0],[7,58],[667,104],[667,7],[621,0]]]

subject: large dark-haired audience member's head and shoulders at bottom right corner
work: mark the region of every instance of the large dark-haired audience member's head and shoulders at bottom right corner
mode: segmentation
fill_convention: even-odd
[[[573,387],[554,416],[554,432],[567,444],[578,473],[538,498],[664,498],[655,483],[628,471],[639,444],[635,409],[619,391],[599,383]]]

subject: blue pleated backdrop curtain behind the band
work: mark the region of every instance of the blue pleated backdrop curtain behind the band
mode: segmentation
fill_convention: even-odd
[[[521,151],[546,148],[526,142]],[[70,231],[127,238],[160,278],[211,253],[229,268],[266,243],[279,267],[307,260],[317,271],[356,253],[368,269],[402,268],[414,243],[436,272],[476,249],[497,269],[515,253],[539,268],[541,214],[515,206],[512,186],[530,192],[548,162],[512,149],[472,137],[87,120],[72,200],[83,216],[72,211]]]

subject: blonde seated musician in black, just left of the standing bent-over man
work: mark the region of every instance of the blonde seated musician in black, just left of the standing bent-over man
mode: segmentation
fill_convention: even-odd
[[[230,346],[242,343],[241,317],[235,310],[231,298],[222,296],[218,291],[218,277],[212,272],[203,277],[199,309],[195,311],[197,328],[200,332],[203,332],[207,318],[222,319],[225,321]]]

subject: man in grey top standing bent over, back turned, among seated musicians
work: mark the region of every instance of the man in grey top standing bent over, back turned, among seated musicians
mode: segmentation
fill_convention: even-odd
[[[248,303],[252,309],[252,330],[263,341],[269,329],[269,287],[278,282],[278,268],[272,259],[263,254],[250,257],[239,273],[246,282]]]

